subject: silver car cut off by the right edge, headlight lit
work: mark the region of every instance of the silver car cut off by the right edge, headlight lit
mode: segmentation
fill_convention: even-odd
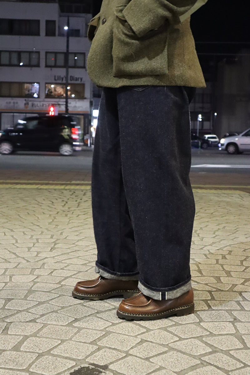
[[[222,138],[219,143],[219,150],[226,150],[229,154],[239,154],[250,151],[250,129],[240,135]]]

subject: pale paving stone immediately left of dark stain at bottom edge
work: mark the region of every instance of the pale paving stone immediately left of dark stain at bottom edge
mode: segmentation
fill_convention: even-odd
[[[25,353],[27,354],[27,353]],[[56,375],[58,372],[69,369],[75,362],[63,358],[44,356],[39,358],[30,368],[30,371],[43,375]]]

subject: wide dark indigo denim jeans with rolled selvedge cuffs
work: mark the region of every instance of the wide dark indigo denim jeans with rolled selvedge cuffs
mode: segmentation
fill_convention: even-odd
[[[156,300],[191,289],[194,91],[104,88],[100,102],[92,174],[96,272],[139,279],[142,293]]]

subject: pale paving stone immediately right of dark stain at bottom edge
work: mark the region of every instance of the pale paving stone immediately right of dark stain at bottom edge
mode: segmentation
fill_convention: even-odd
[[[133,356],[128,356],[125,359],[110,365],[109,368],[124,375],[146,375],[159,368],[159,366]]]

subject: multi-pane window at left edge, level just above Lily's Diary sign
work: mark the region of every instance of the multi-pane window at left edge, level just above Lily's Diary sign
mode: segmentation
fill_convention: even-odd
[[[0,51],[0,66],[40,66],[40,52]]]

